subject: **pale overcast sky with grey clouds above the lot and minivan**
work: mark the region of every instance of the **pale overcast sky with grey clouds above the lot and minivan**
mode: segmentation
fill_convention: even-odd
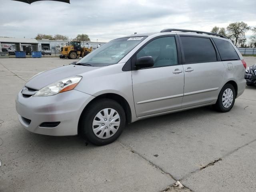
[[[210,31],[236,21],[256,26],[256,0],[0,0],[0,15],[0,36],[86,33],[100,42],[164,28]]]

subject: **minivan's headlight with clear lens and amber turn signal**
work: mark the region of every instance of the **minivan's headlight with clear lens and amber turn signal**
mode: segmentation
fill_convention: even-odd
[[[36,94],[34,94],[34,97],[51,96],[61,92],[70,91],[76,87],[81,79],[81,76],[62,79],[40,89]]]

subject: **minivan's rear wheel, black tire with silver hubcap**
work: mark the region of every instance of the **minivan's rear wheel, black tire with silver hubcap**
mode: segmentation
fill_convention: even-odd
[[[220,112],[228,112],[234,106],[236,92],[232,84],[226,84],[220,91],[218,100],[214,107]]]

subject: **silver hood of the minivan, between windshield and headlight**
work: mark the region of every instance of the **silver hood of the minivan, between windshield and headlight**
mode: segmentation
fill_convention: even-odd
[[[82,76],[84,72],[95,70],[99,67],[91,66],[80,66],[80,65],[65,65],[56,67],[47,71],[44,71],[32,79],[30,79],[25,86],[35,90],[40,90],[41,88],[54,83],[56,81],[62,80],[64,78],[72,76]]]

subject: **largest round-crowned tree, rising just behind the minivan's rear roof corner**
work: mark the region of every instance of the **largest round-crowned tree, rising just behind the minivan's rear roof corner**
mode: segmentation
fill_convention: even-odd
[[[234,42],[235,46],[237,46],[240,39],[244,38],[248,30],[250,30],[250,27],[242,21],[230,23],[227,27],[228,37]]]

